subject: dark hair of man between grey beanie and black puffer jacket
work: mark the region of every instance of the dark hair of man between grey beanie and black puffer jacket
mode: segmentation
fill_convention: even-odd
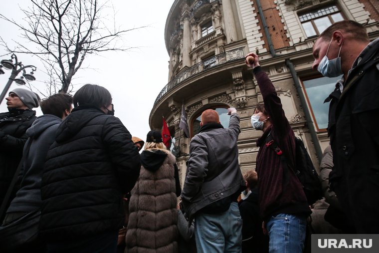
[[[52,114],[59,118],[63,117],[64,111],[70,111],[72,96],[68,94],[54,94],[41,101],[39,106],[43,114]]]

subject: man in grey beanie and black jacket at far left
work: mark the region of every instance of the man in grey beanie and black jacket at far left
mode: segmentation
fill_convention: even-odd
[[[0,113],[0,204],[22,157],[26,129],[37,118],[39,96],[26,89],[14,89],[5,98],[8,112]]]

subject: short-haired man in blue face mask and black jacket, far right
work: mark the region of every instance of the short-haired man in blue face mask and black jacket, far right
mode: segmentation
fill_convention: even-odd
[[[358,234],[379,233],[379,38],[339,21],[313,45],[313,69],[343,75],[325,102],[334,168],[329,181]]]

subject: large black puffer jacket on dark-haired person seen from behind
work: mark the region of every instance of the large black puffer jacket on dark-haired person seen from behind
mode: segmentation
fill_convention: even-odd
[[[42,176],[40,230],[47,241],[119,229],[122,193],[140,173],[131,138],[118,118],[96,108],[75,108],[62,122]]]

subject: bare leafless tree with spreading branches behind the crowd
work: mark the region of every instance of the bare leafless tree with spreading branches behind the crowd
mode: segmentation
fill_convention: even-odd
[[[0,18],[18,26],[22,37],[34,42],[36,49],[15,41],[11,49],[0,38],[9,52],[30,53],[38,56],[46,67],[46,72],[61,82],[59,93],[69,90],[72,77],[82,66],[87,54],[103,51],[125,51],[132,47],[119,46],[121,36],[127,30],[109,27],[102,11],[107,6],[98,0],[31,0],[32,6],[21,10],[27,25],[20,25],[3,14]],[[114,21],[114,19],[113,19]],[[114,23],[114,22],[113,22]],[[55,83],[51,82],[50,83]],[[54,85],[53,85],[54,86]],[[56,87],[48,87],[52,92]]]

